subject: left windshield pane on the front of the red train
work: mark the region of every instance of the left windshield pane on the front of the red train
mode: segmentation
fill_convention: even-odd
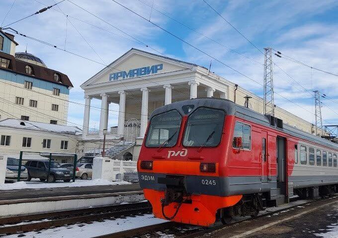
[[[147,147],[172,147],[176,144],[182,116],[172,110],[154,116],[147,134]]]

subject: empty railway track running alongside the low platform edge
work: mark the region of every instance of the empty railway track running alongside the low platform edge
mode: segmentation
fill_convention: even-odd
[[[126,216],[142,216],[152,211],[148,202],[129,203],[77,210],[46,212],[0,218],[0,236],[42,229],[60,227],[76,223],[115,220]]]

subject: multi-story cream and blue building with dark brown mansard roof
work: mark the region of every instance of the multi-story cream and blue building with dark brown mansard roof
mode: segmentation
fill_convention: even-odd
[[[68,76],[32,54],[15,53],[17,45],[0,30],[0,119],[67,124]]]

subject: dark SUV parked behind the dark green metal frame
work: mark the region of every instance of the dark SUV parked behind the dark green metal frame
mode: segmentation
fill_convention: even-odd
[[[45,181],[48,179],[48,182],[54,182],[55,180],[64,180],[69,182],[73,176],[71,171],[61,168],[58,162],[52,161],[50,166],[49,177],[48,174],[48,160],[28,160],[25,164],[26,169],[28,170],[28,179],[30,181],[32,178],[40,179],[40,181]]]

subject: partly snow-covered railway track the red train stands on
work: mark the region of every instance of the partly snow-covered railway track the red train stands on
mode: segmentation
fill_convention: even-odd
[[[296,199],[294,199],[296,200]],[[328,200],[328,199],[324,199]],[[310,205],[314,201],[308,201],[303,203],[302,205]],[[234,221],[229,225],[214,225],[212,227],[198,227],[191,226],[186,224],[180,224],[175,222],[167,222],[157,225],[151,225],[141,228],[136,228],[132,230],[122,231],[118,233],[112,233],[102,236],[97,236],[95,238],[157,238],[161,235],[173,236],[174,238],[196,238],[196,237],[208,237],[212,232],[224,229],[236,227],[237,225],[243,222],[249,222],[258,218],[273,216],[275,213],[283,213],[287,210],[292,210],[294,207],[299,206],[299,203],[295,203],[292,206],[287,206],[284,209],[280,209],[278,211],[274,210],[271,212],[264,212],[263,214],[258,215],[253,218],[243,218],[242,220]]]

